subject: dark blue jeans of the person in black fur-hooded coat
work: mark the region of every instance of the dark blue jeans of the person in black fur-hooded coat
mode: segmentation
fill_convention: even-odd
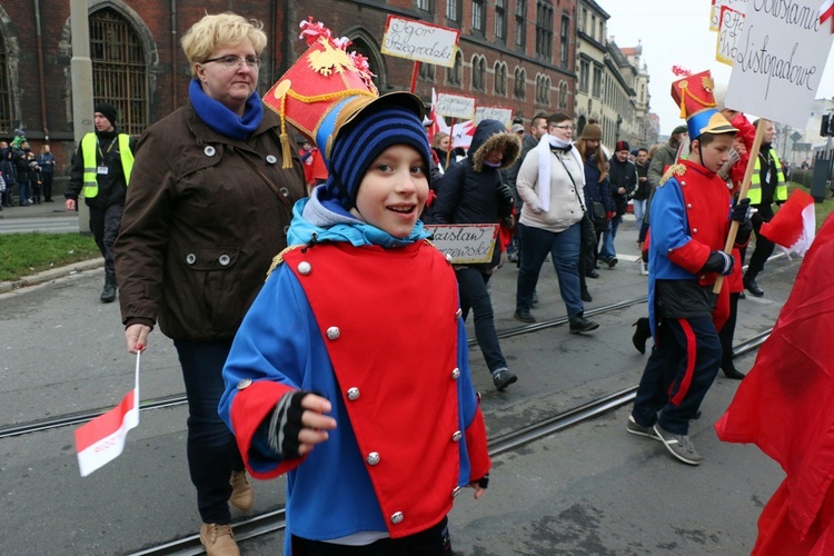
[[[464,320],[469,315],[469,309],[475,314],[475,338],[478,340],[480,353],[484,354],[489,371],[493,373],[507,366],[502,347],[498,344],[498,334],[495,331],[495,315],[493,312],[493,300],[486,285],[490,275],[484,274],[477,268],[461,268],[456,270],[458,289],[460,290],[460,309],[464,311]]]

